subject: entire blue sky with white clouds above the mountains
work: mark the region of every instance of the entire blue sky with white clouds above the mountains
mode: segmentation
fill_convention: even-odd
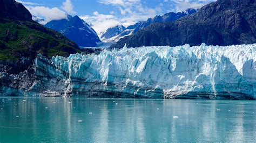
[[[33,16],[44,18],[46,22],[66,18],[66,14],[79,16],[92,25],[100,34],[109,27],[134,23],[180,12],[187,8],[201,6],[215,0],[16,0],[22,3]]]

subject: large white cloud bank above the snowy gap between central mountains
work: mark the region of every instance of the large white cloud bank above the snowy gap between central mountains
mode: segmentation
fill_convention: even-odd
[[[157,13],[161,12],[160,6],[148,8],[140,0],[98,0],[98,2],[116,7],[115,11],[110,12],[110,15],[93,12],[92,16],[80,16],[87,23],[91,23],[98,34],[118,24],[125,27],[130,26],[147,18],[155,17]]]

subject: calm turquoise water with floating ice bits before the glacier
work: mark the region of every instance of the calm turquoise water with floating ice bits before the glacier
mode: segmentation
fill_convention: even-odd
[[[256,141],[255,101],[0,98],[0,142]]]

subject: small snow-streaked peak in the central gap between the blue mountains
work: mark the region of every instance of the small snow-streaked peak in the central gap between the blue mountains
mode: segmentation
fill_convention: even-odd
[[[101,33],[100,39],[104,42],[112,42],[115,37],[125,31],[125,27],[123,25],[117,25],[111,28],[108,28],[105,32]]]

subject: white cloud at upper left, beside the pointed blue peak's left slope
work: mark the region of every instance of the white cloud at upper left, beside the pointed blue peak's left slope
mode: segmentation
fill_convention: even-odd
[[[64,11],[58,8],[48,8],[45,6],[25,6],[33,16],[43,17],[46,22],[66,18]]]

